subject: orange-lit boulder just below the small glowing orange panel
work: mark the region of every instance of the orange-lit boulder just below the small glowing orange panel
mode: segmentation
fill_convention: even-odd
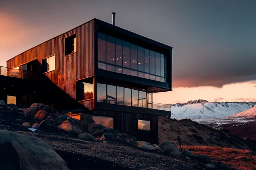
[[[60,125],[58,125],[58,127],[76,136],[83,133],[83,131],[80,129],[80,121],[72,117],[68,117],[67,120],[63,121]]]

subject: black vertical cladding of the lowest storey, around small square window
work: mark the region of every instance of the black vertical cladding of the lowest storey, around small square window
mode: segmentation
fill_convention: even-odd
[[[89,110],[86,113],[114,118],[114,129],[121,133],[132,135],[139,141],[158,144],[158,116],[135,114],[122,111]],[[150,131],[138,130],[138,119],[150,121]]]

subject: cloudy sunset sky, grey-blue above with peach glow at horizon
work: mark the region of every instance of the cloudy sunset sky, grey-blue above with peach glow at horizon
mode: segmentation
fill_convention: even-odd
[[[0,0],[0,65],[92,18],[173,47],[154,102],[256,101],[255,0]]]

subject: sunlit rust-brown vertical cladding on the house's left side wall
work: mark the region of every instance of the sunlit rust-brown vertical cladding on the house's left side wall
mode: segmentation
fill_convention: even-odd
[[[76,52],[65,56],[65,38],[76,34]],[[45,75],[71,98],[76,99],[76,80],[94,76],[94,20],[90,20],[64,34],[54,37],[7,61],[7,67],[15,68],[29,61],[42,60],[55,55],[55,70]],[[40,83],[40,80],[39,80]],[[89,104],[90,102],[84,102]]]

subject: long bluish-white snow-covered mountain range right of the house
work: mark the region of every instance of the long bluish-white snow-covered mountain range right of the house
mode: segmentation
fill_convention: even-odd
[[[172,118],[215,119],[243,112],[256,105],[256,102],[208,102],[194,100],[187,103],[171,104]]]

